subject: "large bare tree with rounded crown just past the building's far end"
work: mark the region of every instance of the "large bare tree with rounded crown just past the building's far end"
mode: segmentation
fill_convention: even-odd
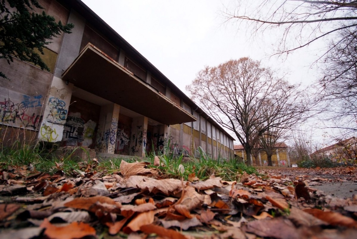
[[[307,97],[301,97],[303,92],[297,85],[290,85],[247,57],[205,67],[186,90],[212,118],[236,134],[248,164],[253,146],[268,128],[291,127],[309,109]],[[262,110],[267,101],[272,102],[267,107],[270,124],[264,123],[267,118]]]

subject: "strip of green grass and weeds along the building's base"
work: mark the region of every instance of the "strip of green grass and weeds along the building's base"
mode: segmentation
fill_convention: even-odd
[[[2,148],[0,152],[0,170],[7,167],[34,167],[39,172],[55,173],[61,169],[66,175],[83,173],[86,168],[91,167],[91,164],[96,163],[96,171],[105,171],[107,173],[120,170],[120,162],[122,158],[111,158],[101,162],[94,162],[92,160],[84,161],[72,157],[76,151],[85,148],[76,147],[69,153],[56,156],[54,150],[56,145],[46,143],[39,143],[36,146],[21,145],[21,147]],[[153,151],[154,152],[154,151]],[[166,151],[168,152],[168,151]],[[88,152],[87,152],[88,153]],[[212,174],[217,177],[222,177],[224,180],[239,180],[243,172],[248,174],[257,173],[256,169],[251,166],[246,166],[237,159],[212,159],[208,156],[202,148],[198,148],[199,157],[187,157],[181,154],[175,156],[174,154],[160,153],[158,156],[162,166],[156,168],[161,173],[161,177],[167,178],[183,178],[188,180],[189,175],[195,174],[199,179],[209,178]],[[145,161],[154,164],[155,153],[146,155]],[[89,157],[89,153],[88,153]],[[124,159],[127,162],[135,162],[135,158]],[[182,166],[184,171],[182,171]],[[150,166],[155,167],[155,166]]]

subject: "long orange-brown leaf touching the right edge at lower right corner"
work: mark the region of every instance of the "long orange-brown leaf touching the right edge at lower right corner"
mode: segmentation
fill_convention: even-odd
[[[323,220],[333,226],[340,225],[345,227],[357,228],[357,222],[352,218],[346,217],[336,212],[324,212],[317,208],[307,208],[303,211],[310,213],[314,217]]]

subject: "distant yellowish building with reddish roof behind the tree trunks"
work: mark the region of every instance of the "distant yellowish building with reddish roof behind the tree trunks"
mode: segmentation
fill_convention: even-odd
[[[288,146],[286,145],[286,143],[276,143],[274,145],[273,150],[275,151],[275,153],[273,153],[271,157],[272,166],[290,167]],[[244,161],[247,160],[247,154],[242,145],[235,145],[234,153],[236,156],[243,158]],[[252,152],[250,160],[252,165],[268,166],[268,157],[263,148],[257,148],[256,153]]]

